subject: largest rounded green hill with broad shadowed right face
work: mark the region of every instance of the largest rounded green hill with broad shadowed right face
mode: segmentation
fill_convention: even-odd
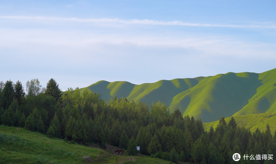
[[[241,110],[261,86],[257,73],[226,73],[205,77],[199,83],[176,95],[170,109],[183,115],[199,117],[203,122],[230,117]]]

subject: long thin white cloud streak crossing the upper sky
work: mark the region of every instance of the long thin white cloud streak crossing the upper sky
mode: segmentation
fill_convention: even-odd
[[[48,20],[48,21],[71,21],[83,23],[122,23],[122,24],[138,24],[138,25],[166,25],[166,26],[189,26],[189,27],[229,27],[229,28],[276,28],[273,25],[232,25],[232,24],[209,24],[209,23],[187,23],[182,21],[158,21],[150,19],[132,19],[123,20],[119,18],[60,18],[60,17],[41,17],[41,16],[0,16],[2,19],[19,19],[19,20]]]

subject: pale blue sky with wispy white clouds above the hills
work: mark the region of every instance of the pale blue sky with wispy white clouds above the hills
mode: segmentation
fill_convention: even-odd
[[[0,1],[0,81],[153,83],[276,68],[276,1]]]

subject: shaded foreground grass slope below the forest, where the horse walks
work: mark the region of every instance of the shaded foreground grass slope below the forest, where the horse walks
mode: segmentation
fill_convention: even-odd
[[[145,155],[126,156],[126,151],[124,155],[119,156],[103,154],[101,149],[69,144],[61,139],[50,139],[44,134],[23,128],[20,128],[20,131],[16,129],[0,125],[0,163],[84,163],[83,156],[88,155],[93,159],[99,156],[100,152],[102,158],[97,163],[169,163]],[[3,138],[6,142],[2,142]],[[128,162],[128,157],[134,157],[136,161]]]

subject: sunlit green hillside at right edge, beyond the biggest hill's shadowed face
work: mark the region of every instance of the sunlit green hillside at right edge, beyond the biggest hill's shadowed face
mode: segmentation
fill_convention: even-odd
[[[261,86],[248,104],[235,115],[276,112],[276,69],[259,73]]]

